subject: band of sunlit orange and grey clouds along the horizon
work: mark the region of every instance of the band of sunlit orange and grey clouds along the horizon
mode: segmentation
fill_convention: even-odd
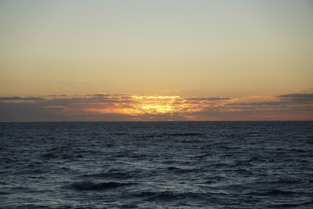
[[[52,96],[52,95],[50,95]],[[0,121],[312,120],[313,94],[262,96],[271,101],[240,102],[231,97],[88,96],[0,97]],[[64,98],[65,97],[65,98]]]

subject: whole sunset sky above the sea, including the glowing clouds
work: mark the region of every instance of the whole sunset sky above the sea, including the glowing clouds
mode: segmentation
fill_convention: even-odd
[[[311,0],[0,0],[0,122],[313,120]]]

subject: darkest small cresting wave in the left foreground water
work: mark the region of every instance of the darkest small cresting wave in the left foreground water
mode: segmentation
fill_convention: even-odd
[[[70,184],[71,187],[77,190],[104,190],[113,189],[120,186],[134,185],[137,183],[118,183],[118,182],[103,182],[103,183],[93,183],[93,182],[74,182]]]

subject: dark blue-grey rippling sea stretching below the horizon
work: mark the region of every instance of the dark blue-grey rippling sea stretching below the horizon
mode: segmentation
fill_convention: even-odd
[[[2,208],[312,208],[313,121],[0,123]]]

